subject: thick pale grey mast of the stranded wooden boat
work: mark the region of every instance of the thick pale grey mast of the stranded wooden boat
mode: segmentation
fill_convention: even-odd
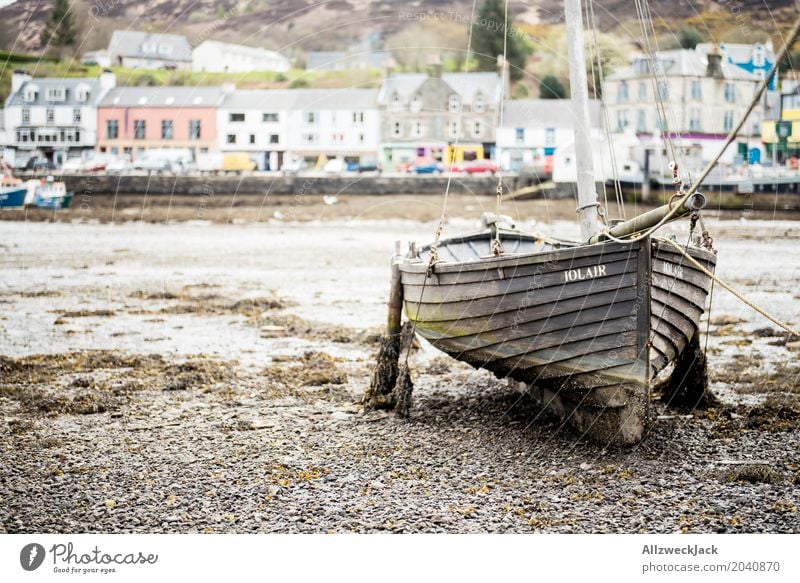
[[[589,0],[591,1],[591,0]],[[600,231],[597,190],[592,159],[592,126],[589,121],[589,87],[583,54],[583,11],[581,0],[565,0],[564,16],[569,46],[569,86],[575,131],[575,167],[578,186],[578,221],[581,240],[588,241]]]

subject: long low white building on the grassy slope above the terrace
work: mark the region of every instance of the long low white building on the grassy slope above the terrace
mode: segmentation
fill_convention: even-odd
[[[209,73],[286,72],[292,64],[275,51],[246,47],[215,40],[200,43],[192,50],[192,70]]]

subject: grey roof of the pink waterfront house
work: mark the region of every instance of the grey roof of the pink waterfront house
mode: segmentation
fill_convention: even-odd
[[[117,87],[98,107],[213,107],[224,96],[222,87]]]

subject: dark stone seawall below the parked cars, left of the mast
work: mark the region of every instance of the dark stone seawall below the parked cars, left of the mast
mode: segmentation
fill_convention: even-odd
[[[67,190],[82,194],[431,194],[441,195],[446,176],[168,176],[64,175]],[[505,193],[528,186],[529,180],[507,177]],[[453,176],[450,192],[494,195],[494,176]]]

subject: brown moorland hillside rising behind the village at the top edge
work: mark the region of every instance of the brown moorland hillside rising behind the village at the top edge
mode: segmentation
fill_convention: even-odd
[[[760,40],[774,33],[775,22],[791,18],[793,0],[651,0],[656,25],[667,32],[689,21],[704,35],[717,40]],[[405,28],[437,20],[464,27],[472,0],[74,0],[81,25],[80,52],[102,48],[116,28],[186,34],[198,44],[206,38],[236,41],[282,50],[346,48],[365,32],[386,38]],[[17,0],[0,9],[0,48],[41,50],[39,35],[52,1]],[[509,5],[518,24],[553,24],[562,19],[561,0],[513,1]],[[741,13],[739,12],[741,10]],[[457,16],[456,16],[457,15]],[[596,15],[601,29],[638,36],[631,0],[600,0]],[[747,37],[753,38],[747,38]],[[719,38],[722,37],[722,38]],[[761,39],[763,40],[763,39]]]

